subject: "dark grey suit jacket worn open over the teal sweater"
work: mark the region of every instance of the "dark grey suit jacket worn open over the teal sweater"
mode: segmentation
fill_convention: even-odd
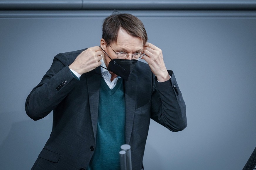
[[[55,56],[28,95],[26,113],[31,119],[42,119],[53,110],[50,138],[32,169],[86,169],[97,147],[100,67],[84,73],[80,80],[68,67],[83,50]],[[133,170],[143,166],[150,118],[174,132],[187,126],[182,94],[173,72],[168,72],[171,79],[158,83],[148,64],[138,61],[128,81],[124,80],[125,137],[131,145]]]

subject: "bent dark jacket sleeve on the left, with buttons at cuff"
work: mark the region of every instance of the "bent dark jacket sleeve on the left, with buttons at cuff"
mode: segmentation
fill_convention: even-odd
[[[26,99],[25,110],[33,120],[47,116],[72,90],[74,78],[68,67],[67,56],[58,54],[41,82],[30,92]]]

